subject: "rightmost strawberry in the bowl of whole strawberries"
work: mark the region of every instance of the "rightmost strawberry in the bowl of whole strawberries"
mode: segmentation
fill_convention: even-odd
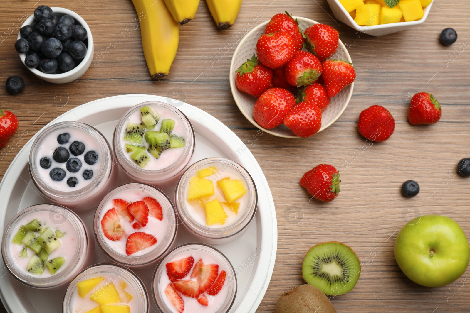
[[[352,64],[343,60],[327,60],[322,64],[323,67],[323,81],[328,96],[333,98],[347,85],[352,84],[356,79],[356,71]]]

